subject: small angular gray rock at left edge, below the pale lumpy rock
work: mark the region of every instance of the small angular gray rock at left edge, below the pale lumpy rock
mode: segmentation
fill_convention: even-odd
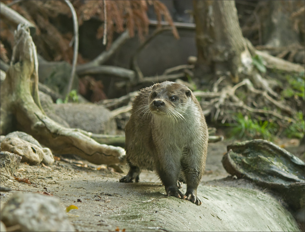
[[[8,179],[14,179],[13,175],[21,161],[21,156],[9,153],[7,151],[0,152],[0,180],[4,183]]]

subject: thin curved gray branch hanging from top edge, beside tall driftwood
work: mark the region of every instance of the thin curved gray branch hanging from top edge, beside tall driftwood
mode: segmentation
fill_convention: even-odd
[[[71,2],[69,0],[65,0],[66,4],[69,6],[71,12],[72,12],[72,18],[73,18],[73,27],[74,27],[74,51],[73,51],[73,62],[72,62],[72,70],[71,70],[71,76],[68,83],[67,93],[70,93],[72,89],[72,84],[74,81],[75,76],[75,68],[77,63],[77,56],[78,56],[78,22],[77,22],[77,15],[75,12],[75,9]]]

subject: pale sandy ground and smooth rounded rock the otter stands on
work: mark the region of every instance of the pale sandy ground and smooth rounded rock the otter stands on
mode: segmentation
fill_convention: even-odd
[[[218,170],[222,168],[226,145],[217,143],[209,148],[203,181],[215,179],[216,174],[226,177],[225,170]],[[247,180],[237,179],[236,183],[232,180],[235,185],[230,183],[230,186],[220,186],[223,180],[201,183],[198,197],[203,204],[197,206],[166,197],[164,186],[158,183],[153,172],[143,170],[140,183],[119,183],[124,174],[110,172],[106,166],[96,165],[99,169],[92,169],[89,162],[83,162],[88,167],[61,160],[50,168],[20,163],[18,172],[35,185],[7,182],[5,186],[13,190],[1,196],[1,203],[19,190],[50,192],[63,209],[69,205],[78,207],[69,212],[78,217],[68,216],[76,231],[115,231],[117,227],[120,231],[300,231],[278,199],[250,189],[250,184],[241,184],[252,183]],[[213,173],[209,174],[209,170]],[[31,175],[34,176],[31,178]],[[186,192],[186,185],[181,191]]]

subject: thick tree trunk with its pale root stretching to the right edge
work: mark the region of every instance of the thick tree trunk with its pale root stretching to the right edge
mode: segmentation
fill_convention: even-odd
[[[289,72],[304,71],[301,65],[272,58],[254,49],[242,35],[235,1],[193,1],[193,7],[198,51],[196,77],[204,79],[207,78],[205,74],[211,72],[216,76],[230,76],[233,83],[254,77],[257,73],[252,64],[254,55],[265,58],[267,67]],[[205,81],[208,83],[211,79]],[[266,85],[259,83],[257,86]],[[268,86],[265,89],[270,92]]]

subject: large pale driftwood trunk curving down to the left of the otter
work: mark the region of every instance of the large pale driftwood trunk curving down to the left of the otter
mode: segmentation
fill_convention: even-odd
[[[19,25],[15,32],[12,61],[0,94],[1,134],[14,123],[54,153],[76,154],[95,164],[124,162],[123,148],[100,144],[90,138],[92,133],[65,128],[46,116],[38,96],[36,48],[26,26]]]

